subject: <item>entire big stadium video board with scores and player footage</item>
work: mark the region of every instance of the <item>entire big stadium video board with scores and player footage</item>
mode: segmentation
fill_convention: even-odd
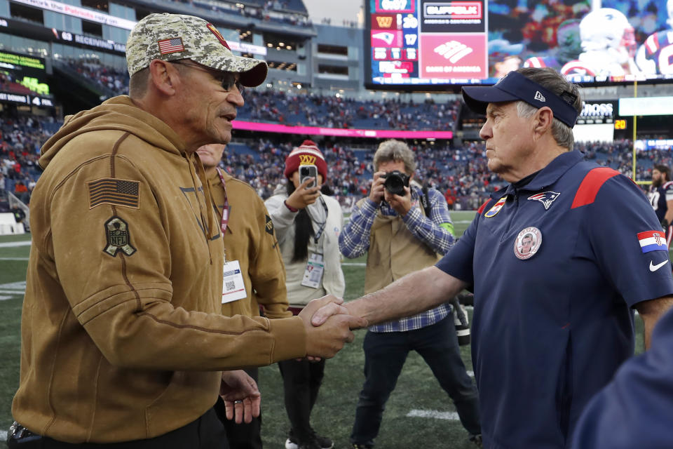
[[[492,84],[519,67],[572,81],[673,79],[673,0],[367,0],[367,88]]]

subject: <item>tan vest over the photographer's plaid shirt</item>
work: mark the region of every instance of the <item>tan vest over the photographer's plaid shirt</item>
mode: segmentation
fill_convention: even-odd
[[[358,201],[358,207],[362,202]],[[425,211],[420,202],[415,206]],[[399,215],[376,215],[369,234],[367,269],[365,271],[365,293],[372,293],[397,281],[402,276],[434,265],[441,255],[419,241]]]

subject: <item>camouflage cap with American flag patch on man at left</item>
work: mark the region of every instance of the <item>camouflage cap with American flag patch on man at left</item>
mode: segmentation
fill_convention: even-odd
[[[266,79],[266,62],[234,55],[214,25],[193,15],[150,14],[135,24],[126,41],[129,76],[155,59],[191,59],[212,69],[240,73],[240,82],[247,87]]]

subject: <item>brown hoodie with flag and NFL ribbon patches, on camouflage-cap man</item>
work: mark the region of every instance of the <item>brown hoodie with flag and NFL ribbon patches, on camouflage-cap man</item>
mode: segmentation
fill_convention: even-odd
[[[219,314],[221,235],[196,159],[125,96],[42,148],[12,406],[27,429],[152,438],[215,403],[218,370],[306,354],[301,319]]]

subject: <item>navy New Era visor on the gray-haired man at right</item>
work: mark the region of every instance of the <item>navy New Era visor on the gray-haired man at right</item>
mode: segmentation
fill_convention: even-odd
[[[489,103],[522,100],[538,109],[548,106],[559,119],[569,127],[575,126],[578,112],[572,105],[577,99],[573,93],[566,92],[559,97],[535,81],[519,72],[510,72],[494,86],[471,86],[463,88],[465,104],[474,112],[486,114]]]

